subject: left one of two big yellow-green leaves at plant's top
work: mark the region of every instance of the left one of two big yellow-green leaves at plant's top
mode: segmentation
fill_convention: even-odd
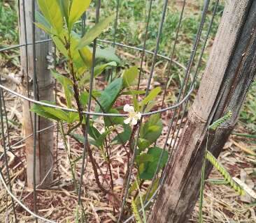
[[[57,0],[38,0],[38,6],[46,20],[56,30],[61,33],[63,29],[62,12]]]

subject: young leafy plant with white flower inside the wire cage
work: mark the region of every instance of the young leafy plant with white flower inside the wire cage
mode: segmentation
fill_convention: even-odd
[[[93,54],[90,47],[92,41],[111,23],[113,16],[104,18],[87,31],[84,36],[80,37],[74,31],[73,25],[78,22],[81,15],[90,6],[90,0],[38,0],[38,6],[41,13],[36,14],[36,26],[51,36],[58,52],[66,60],[66,72],[68,74],[62,75],[57,70],[52,70],[52,77],[62,85],[66,107],[76,109],[77,112],[67,112],[43,105],[34,105],[31,111],[59,123],[76,191],[78,191],[76,162],[80,157],[71,155],[67,139],[72,137],[83,147],[85,134],[88,134],[85,148],[90,157],[90,162],[92,162],[96,183],[103,192],[113,194],[111,148],[117,144],[120,144],[127,152],[127,172],[129,172],[129,157],[132,153],[136,153],[136,168],[139,180],[143,183],[143,180],[152,179],[157,169],[159,157],[162,154],[162,148],[154,146],[162,134],[163,128],[159,114],[152,115],[147,118],[145,123],[141,123],[137,148],[134,148],[134,135],[138,129],[138,124],[142,120],[141,112],[144,108],[145,111],[152,109],[155,105],[155,98],[162,89],[160,87],[152,89],[143,100],[139,101],[138,95],[145,94],[145,91],[134,90],[138,80],[138,68],[136,66],[128,68],[122,73],[117,73],[103,91],[90,89],[92,70],[94,70],[92,76],[95,79],[104,74],[104,70],[107,68],[118,66],[118,63],[120,63],[114,49],[97,47],[96,53]],[[93,55],[95,58],[93,58]],[[90,98],[90,95],[92,98]],[[131,98],[133,105],[115,106],[116,101],[122,100],[124,95],[126,98]],[[98,116],[90,116],[89,123],[87,123],[87,118],[83,113],[84,110],[88,109],[88,102],[91,100],[95,104],[95,112],[120,114],[123,109],[128,117],[104,116],[104,126],[101,125],[103,130],[99,130],[99,125],[97,125]],[[45,103],[52,104],[52,102]],[[87,124],[88,129],[86,128]],[[78,131],[83,134],[79,134]],[[104,157],[108,166],[111,183],[107,189],[99,180],[98,171],[101,172],[101,169],[92,155],[92,146],[98,149],[99,154]],[[164,151],[159,170],[164,167],[167,160],[168,153]]]

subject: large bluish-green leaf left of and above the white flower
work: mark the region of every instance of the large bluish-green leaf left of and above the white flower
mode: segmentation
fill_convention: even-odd
[[[115,79],[111,84],[109,84],[106,89],[101,93],[101,97],[99,98],[99,103],[101,107],[103,107],[103,112],[108,112],[108,110],[114,104],[118,94],[122,90],[122,78]],[[101,109],[99,106],[97,107],[97,111]]]

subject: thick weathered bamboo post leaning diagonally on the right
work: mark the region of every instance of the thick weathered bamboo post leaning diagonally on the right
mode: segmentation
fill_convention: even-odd
[[[226,112],[232,118],[211,132],[208,150],[216,157],[232,132],[256,74],[256,1],[226,3],[197,98],[189,112],[173,163],[167,167],[149,223],[184,223],[199,197],[208,125]],[[206,176],[211,172],[206,166]]]

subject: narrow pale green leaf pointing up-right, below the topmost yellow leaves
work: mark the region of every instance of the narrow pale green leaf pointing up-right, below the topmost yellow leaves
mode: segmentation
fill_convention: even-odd
[[[82,49],[83,47],[92,43],[92,41],[97,38],[102,33],[102,31],[104,31],[104,29],[108,27],[109,23],[113,20],[113,18],[114,15],[111,15],[110,17],[101,20],[95,26],[93,26],[92,29],[87,31],[87,33],[85,33],[85,36],[83,36],[83,38],[80,40],[77,49]]]

